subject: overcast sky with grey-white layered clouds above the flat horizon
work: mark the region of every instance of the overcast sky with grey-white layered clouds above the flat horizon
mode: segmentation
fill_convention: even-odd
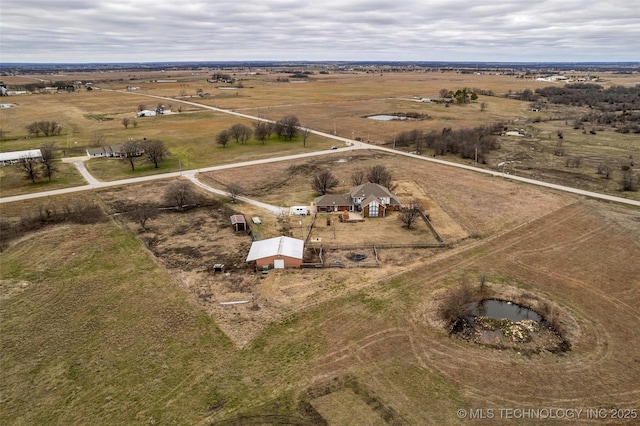
[[[0,62],[640,61],[640,0],[0,0]]]

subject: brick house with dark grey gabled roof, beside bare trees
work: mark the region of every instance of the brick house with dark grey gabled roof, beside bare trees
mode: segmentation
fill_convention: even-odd
[[[400,210],[400,200],[387,188],[367,182],[354,186],[348,194],[327,194],[315,199],[318,212],[357,211],[363,217],[385,217]]]

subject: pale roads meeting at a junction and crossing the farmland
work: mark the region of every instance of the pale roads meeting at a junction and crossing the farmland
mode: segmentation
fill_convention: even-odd
[[[103,90],[106,90],[106,89],[103,89]],[[230,115],[234,115],[234,116],[237,116],[237,117],[247,118],[247,119],[250,119],[250,120],[273,122],[272,120],[267,120],[267,119],[264,119],[264,118],[255,117],[255,116],[252,116],[252,115],[239,113],[239,112],[236,112],[236,111],[231,111],[231,110],[221,109],[221,108],[217,108],[217,107],[212,107],[212,106],[209,106],[209,105],[203,105],[203,104],[199,104],[197,102],[185,101],[185,100],[175,99],[175,98],[167,98],[167,97],[163,97],[163,96],[149,95],[149,94],[145,94],[145,93],[135,93],[135,92],[125,92],[125,91],[118,91],[118,92],[123,93],[123,94],[132,95],[132,96],[144,96],[144,97],[160,99],[160,100],[164,100],[164,101],[181,102],[181,103],[184,103],[184,104],[187,104],[187,105],[192,105],[192,106],[196,106],[196,107],[204,108],[204,109],[210,109],[210,110],[213,110],[213,111],[217,111],[217,112],[221,112],[221,113],[225,113],[225,114],[230,114]],[[542,181],[539,181],[539,180],[529,179],[529,178],[520,177],[520,176],[514,176],[514,175],[509,175],[509,174],[505,175],[504,173],[501,173],[501,172],[495,171],[495,170],[482,169],[480,167],[474,167],[474,166],[468,166],[468,165],[465,165],[465,164],[453,163],[453,162],[450,162],[450,161],[440,160],[440,159],[432,158],[432,157],[424,157],[424,156],[417,155],[417,154],[410,154],[410,153],[407,153],[407,152],[396,151],[396,150],[393,150],[393,149],[390,149],[390,148],[386,148],[386,147],[381,147],[381,146],[377,146],[377,145],[370,145],[370,144],[367,144],[367,143],[364,143],[364,142],[355,141],[355,140],[349,139],[349,138],[343,138],[341,136],[332,135],[330,133],[320,132],[320,131],[313,130],[313,129],[308,129],[308,130],[313,134],[316,134],[316,135],[319,135],[319,136],[323,136],[323,137],[328,138],[328,139],[333,139],[333,140],[342,142],[342,143],[345,144],[345,147],[344,148],[339,148],[337,150],[323,150],[323,151],[316,151],[316,152],[310,152],[310,153],[304,153],[304,154],[287,155],[287,156],[283,156],[283,157],[268,158],[268,159],[263,159],[263,160],[246,161],[246,162],[226,164],[226,165],[221,165],[221,166],[205,167],[205,168],[201,168],[201,169],[197,169],[197,170],[188,170],[188,171],[185,171],[185,172],[164,173],[164,174],[159,174],[159,175],[143,176],[143,177],[138,177],[138,178],[123,179],[123,180],[111,181],[111,182],[100,182],[100,181],[96,180],[93,176],[91,176],[91,174],[84,167],[84,160],[86,160],[86,157],[79,157],[77,159],[75,159],[75,158],[65,159],[63,161],[71,162],[76,166],[76,168],[80,171],[82,176],[87,181],[87,183],[88,183],[87,185],[73,187],[73,188],[58,189],[58,190],[53,190],[53,191],[38,192],[38,193],[32,193],[32,194],[16,195],[16,196],[12,196],[12,197],[1,197],[0,198],[0,203],[9,203],[9,202],[13,202],[13,201],[40,198],[40,197],[48,197],[48,196],[59,195],[59,194],[70,194],[70,193],[78,192],[78,191],[86,191],[86,190],[104,188],[104,187],[109,187],[109,186],[128,185],[128,184],[132,184],[132,183],[147,182],[147,181],[157,180],[157,179],[167,179],[167,178],[171,178],[171,177],[180,177],[183,174],[186,177],[188,177],[188,178],[193,180],[193,179],[195,179],[195,174],[196,173],[201,173],[201,172],[208,172],[208,171],[213,171],[213,170],[224,170],[224,169],[230,169],[230,168],[235,168],[235,167],[246,167],[246,166],[253,166],[253,165],[257,165],[257,164],[268,164],[268,163],[273,163],[273,162],[278,162],[278,161],[287,161],[287,160],[293,160],[293,159],[299,159],[299,158],[308,158],[308,157],[314,157],[314,156],[319,156],[319,155],[326,155],[326,154],[335,153],[335,152],[344,152],[344,151],[351,151],[351,150],[358,150],[358,149],[370,149],[370,150],[388,152],[388,153],[394,154],[394,155],[402,155],[402,156],[405,156],[405,157],[411,157],[411,158],[415,158],[415,159],[418,159],[418,160],[421,160],[421,161],[428,161],[428,162],[432,162],[432,163],[442,164],[442,165],[445,165],[445,166],[457,167],[457,168],[461,168],[461,169],[465,169],[465,170],[470,170],[470,171],[473,171],[473,172],[476,172],[476,173],[483,173],[483,174],[488,174],[488,175],[491,175],[491,176],[503,177],[503,178],[506,178],[506,179],[514,180],[514,181],[524,182],[524,183],[528,183],[528,184],[531,184],[531,185],[542,186],[542,187],[545,187],[545,188],[551,188],[551,189],[555,189],[555,190],[558,190],[558,191],[564,191],[564,192],[568,192],[568,193],[572,193],[572,194],[583,195],[583,196],[586,196],[586,197],[591,197],[591,198],[595,198],[595,199],[599,199],[599,200],[613,201],[613,202],[616,202],[616,203],[622,203],[622,204],[627,204],[627,205],[632,205],[632,206],[640,206],[640,201],[636,201],[636,200],[629,200],[629,199],[622,198],[622,197],[614,197],[614,196],[611,196],[611,195],[599,194],[597,192],[584,191],[584,190],[581,190],[581,189],[571,188],[569,186],[556,185],[556,184],[553,184],[553,183],[542,182]],[[80,161],[78,161],[78,160],[80,160]],[[195,179],[195,181],[197,181],[197,179]],[[195,183],[195,181],[194,181],[194,183]],[[200,181],[197,181],[197,182],[200,182]],[[198,183],[196,183],[196,184],[198,184]],[[203,186],[204,184],[202,184],[200,182],[199,185]],[[204,186],[207,187],[206,185],[204,185]],[[212,192],[219,191],[219,190],[215,190],[214,188],[211,188],[211,187],[207,187],[207,188],[210,188],[212,190]],[[258,203],[258,202],[256,201],[256,203]],[[269,208],[281,209],[281,207],[277,207],[277,206],[271,206]]]

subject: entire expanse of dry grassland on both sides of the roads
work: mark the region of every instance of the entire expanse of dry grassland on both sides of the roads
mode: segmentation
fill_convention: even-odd
[[[353,186],[354,172],[384,166],[398,198],[419,203],[445,244],[437,244],[424,221],[404,227],[398,212],[362,222],[328,213],[276,215],[195,185],[193,208],[162,209],[143,226],[130,214],[150,204],[169,207],[167,188],[190,182],[184,176],[2,203],[3,422],[637,424],[638,208],[400,153],[333,151],[328,148],[339,142],[321,135],[305,143],[274,135],[264,144],[222,147],[217,133],[251,120],[196,104],[273,120],[295,114],[303,126],[385,147],[414,128],[440,132],[503,121],[523,136],[498,136],[500,147],[478,166],[500,170],[504,161],[506,175],[633,200],[640,199],[637,192],[620,190],[619,165],[640,158],[638,134],[604,124],[593,133],[575,129],[571,117],[583,114],[582,107],[549,104],[533,112],[528,102],[501,96],[480,96],[488,103],[484,111],[479,103],[416,101],[435,99],[443,88],[503,95],[549,84],[514,75],[315,70],[294,83],[274,69],[225,72],[239,80],[208,83],[211,72],[203,70],[74,75],[92,80],[94,90],[10,98],[16,106],[0,110],[0,147],[36,147],[45,138],[27,139],[25,130],[34,120],[62,124],[61,135],[48,139],[59,156],[84,155],[96,134],[109,144],[143,137],[165,143],[170,156],[159,169],[143,158],[135,171],[120,160],[88,160],[87,169],[102,181],[326,151],[201,172],[197,179],[223,190],[239,184],[243,196],[274,206],[311,205],[320,195],[311,183],[321,171],[336,177],[331,192],[340,194]],[[3,79],[26,84],[33,77],[49,78]],[[599,80],[638,83],[637,74],[601,73]],[[140,89],[121,92],[131,86]],[[140,104],[167,103],[149,95],[173,98],[172,111],[181,100],[192,103],[125,128],[122,118],[134,117]],[[408,112],[431,118],[366,118]],[[559,148],[566,151],[562,158]],[[566,166],[575,156],[580,166]],[[475,163],[453,153],[438,158]],[[609,179],[596,173],[605,160],[616,165]],[[82,185],[80,174],[64,166],[52,182],[37,184],[3,167],[2,196]],[[54,223],[63,212],[71,219]],[[249,220],[257,239],[308,236],[305,262],[322,256],[325,267],[256,273],[246,263],[251,236],[233,231],[233,214],[260,218],[260,224]],[[356,262],[354,253],[366,259]],[[214,271],[214,264],[225,271]],[[460,338],[441,314],[449,295],[465,286],[546,306],[546,319],[553,318],[567,347]]]

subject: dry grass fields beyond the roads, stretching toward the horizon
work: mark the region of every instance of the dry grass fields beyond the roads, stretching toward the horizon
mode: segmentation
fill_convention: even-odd
[[[224,113],[206,110],[206,105],[246,113],[256,117],[278,120],[296,115],[303,126],[347,138],[359,138],[374,144],[392,145],[395,135],[419,129],[441,131],[443,128],[461,129],[494,122],[503,122],[509,130],[523,130],[524,138],[501,137],[500,149],[486,157],[482,167],[497,168],[508,161],[509,172],[563,185],[593,190],[617,196],[640,199],[638,192],[621,192],[620,165],[629,158],[640,157],[640,136],[619,134],[613,128],[599,126],[595,135],[573,129],[573,119],[587,109],[545,107],[539,112],[530,110],[529,103],[505,97],[524,89],[535,90],[549,86],[532,78],[517,78],[505,74],[461,74],[456,72],[330,72],[317,70],[306,82],[282,82],[287,73],[268,69],[230,70],[238,81],[235,90],[230,84],[209,83],[206,71],[129,72],[110,74],[69,75],[74,80],[95,82],[103,90],[47,95],[24,95],[11,98],[13,108],[0,110],[3,151],[30,149],[42,140],[56,143],[60,156],[84,155],[85,149],[99,135],[103,143],[122,143],[128,139],[161,139],[170,157],[161,164],[161,171],[181,168],[200,168],[233,161],[266,158],[277,153],[325,149],[335,141],[312,136],[307,147],[300,142],[283,143],[272,140],[266,145],[250,142],[246,146],[235,143],[227,148],[215,144],[215,136],[235,123],[250,125],[250,121]],[[589,77],[574,73],[574,77]],[[598,83],[635,85],[635,74],[600,73]],[[51,79],[51,76],[30,78]],[[155,83],[158,79],[175,79],[175,83]],[[8,76],[6,83],[25,82],[24,77]],[[130,91],[127,87],[139,87]],[[420,98],[439,97],[441,89],[459,88],[493,91],[496,96],[481,95],[477,102],[452,105],[417,102]],[[114,91],[115,90],[115,91]],[[206,96],[198,96],[204,93]],[[159,99],[153,96],[166,97]],[[184,101],[184,102],[182,102]],[[136,126],[126,128],[123,118],[135,117],[140,105],[152,108],[162,103],[170,105],[172,114],[135,119]],[[197,104],[197,105],[194,105]],[[486,103],[486,111],[481,111]],[[178,112],[181,111],[181,112]],[[376,121],[367,118],[375,114],[419,113],[426,120]],[[25,126],[36,120],[55,120],[63,127],[60,136],[27,138]],[[563,156],[556,156],[558,131],[564,133]],[[407,149],[411,150],[412,147]],[[431,150],[423,152],[431,155]],[[567,167],[568,158],[580,158],[581,166]],[[471,163],[454,155],[443,159]],[[596,173],[603,162],[613,166],[609,179]],[[95,160],[89,169],[101,180],[115,180],[131,176],[157,173],[158,170],[139,161],[138,170],[130,171],[120,161]],[[3,192],[18,194],[40,190],[19,184],[19,176],[0,177]],[[63,183],[72,186],[76,183]]]

